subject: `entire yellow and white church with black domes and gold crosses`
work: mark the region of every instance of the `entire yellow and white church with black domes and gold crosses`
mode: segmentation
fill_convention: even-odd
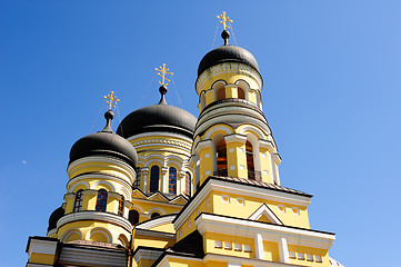
[[[46,237],[29,237],[28,267],[342,266],[335,235],[310,228],[310,194],[281,186],[281,157],[262,111],[255,58],[229,44],[200,61],[199,115],[160,100],[72,146],[67,191]],[[167,96],[166,96],[167,95]],[[196,103],[193,103],[196,105]]]

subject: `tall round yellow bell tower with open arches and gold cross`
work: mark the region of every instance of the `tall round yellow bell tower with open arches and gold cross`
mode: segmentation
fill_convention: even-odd
[[[224,44],[208,52],[198,68],[199,119],[192,165],[196,186],[209,176],[229,176],[280,185],[281,158],[262,112],[263,80],[254,57],[228,43],[223,12],[218,16]]]

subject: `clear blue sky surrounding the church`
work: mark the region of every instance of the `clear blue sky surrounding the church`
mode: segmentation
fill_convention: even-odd
[[[401,1],[0,0],[0,266],[24,266],[63,202],[69,150],[159,100],[197,113],[198,63],[230,42],[257,58],[283,186],[314,195],[313,229],[334,231],[345,266],[397,266],[401,237]],[[217,30],[217,27],[219,29]],[[233,38],[234,37],[234,38]]]

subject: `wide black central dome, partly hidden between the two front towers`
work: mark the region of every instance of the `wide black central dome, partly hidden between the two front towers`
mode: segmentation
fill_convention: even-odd
[[[167,131],[181,134],[192,139],[197,118],[187,110],[167,105],[160,100],[159,105],[137,109],[128,115],[117,129],[117,134],[129,138],[133,135]]]

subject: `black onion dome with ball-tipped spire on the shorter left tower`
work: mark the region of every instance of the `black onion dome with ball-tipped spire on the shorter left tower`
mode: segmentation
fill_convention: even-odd
[[[70,164],[89,156],[107,156],[121,159],[134,168],[138,162],[136,149],[127,139],[111,130],[110,120],[113,113],[108,111],[104,117],[108,119],[108,123],[103,130],[82,137],[72,146]]]

